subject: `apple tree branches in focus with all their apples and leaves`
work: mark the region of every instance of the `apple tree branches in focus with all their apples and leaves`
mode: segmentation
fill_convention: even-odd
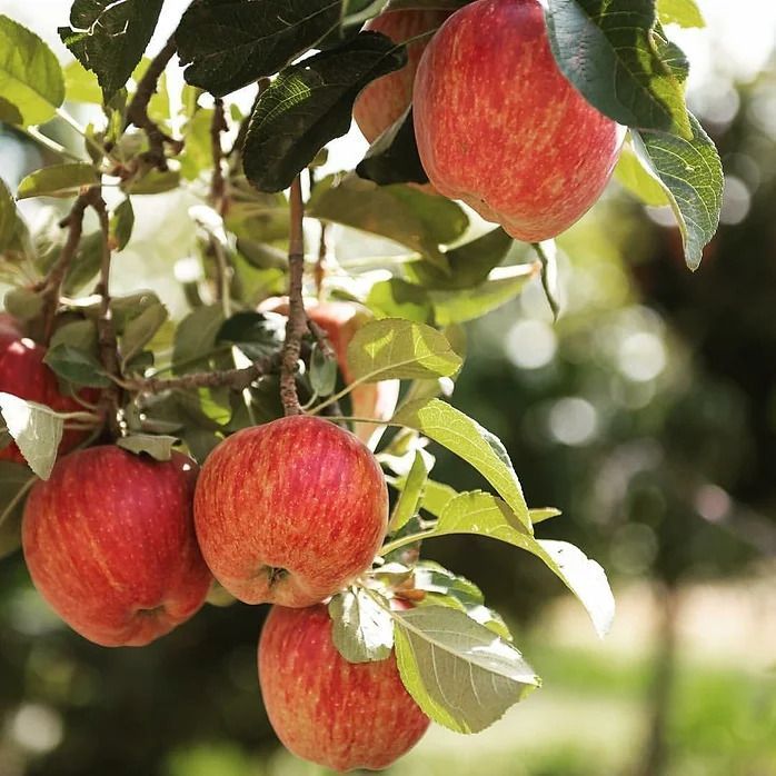
[[[426,541],[529,553],[611,624],[601,567],[537,536],[558,511],[526,503],[449,398],[467,321],[533,280],[560,312],[553,239],[615,167],[670,202],[698,267],[722,168],[666,32],[697,9],[195,0],[150,59],[161,8],[74,0],[64,69],[0,16],[0,120],[47,162],[0,182],[2,551],[21,544],[50,606],[105,646],[148,644],[206,598],[273,604],[259,674],[281,740],[385,767],[429,719],[476,733],[540,684]],[[369,150],[321,175],[354,117]],[[176,306],[122,267],[136,212],[169,192],[196,246],[170,268]],[[58,225],[31,226],[31,198],[64,202]],[[359,232],[390,250],[345,260]],[[437,481],[435,446],[489,489]]]

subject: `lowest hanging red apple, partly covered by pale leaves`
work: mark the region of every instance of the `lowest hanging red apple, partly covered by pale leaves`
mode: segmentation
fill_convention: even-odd
[[[335,770],[379,770],[426,733],[429,718],[405,689],[396,657],[348,663],[331,640],[326,606],[273,606],[259,639],[269,720],[298,757]]]

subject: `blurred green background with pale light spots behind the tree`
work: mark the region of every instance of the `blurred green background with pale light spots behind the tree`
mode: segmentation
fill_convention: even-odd
[[[69,4],[0,10],[64,59]],[[475,537],[427,546],[480,584],[545,686],[478,736],[432,728],[397,775],[776,776],[776,7],[699,4],[707,29],[670,33],[727,179],[700,270],[666,209],[613,182],[559,240],[559,322],[536,285],[470,326],[452,399],[504,440],[529,504],[563,509],[541,535],[605,566],[614,630],[599,641],[527,555]],[[166,3],[155,47],[185,6]],[[351,132],[328,169],[362,150]],[[40,163],[0,127],[12,188]],[[173,309],[185,197],[133,197],[150,201],[118,269],[137,285],[142,268]],[[435,479],[479,485],[441,451]],[[146,649],[101,649],[48,610],[19,553],[0,560],[0,775],[322,773],[278,748],[261,707],[263,615],[210,606]]]

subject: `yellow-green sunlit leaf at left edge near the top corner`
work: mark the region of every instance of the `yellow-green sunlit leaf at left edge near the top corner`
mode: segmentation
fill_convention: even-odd
[[[0,94],[21,113],[24,126],[48,121],[64,100],[62,69],[33,32],[0,16]]]

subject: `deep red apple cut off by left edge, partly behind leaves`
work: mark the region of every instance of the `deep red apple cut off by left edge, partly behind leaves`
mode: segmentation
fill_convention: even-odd
[[[57,376],[43,364],[46,348],[24,337],[19,325],[8,314],[0,314],[0,391],[13,394],[28,401],[37,401],[59,412],[86,411],[72,396],[59,390]],[[79,391],[84,401],[93,404],[99,394],[93,389]],[[88,436],[88,431],[66,430],[59,451],[68,452]],[[24,464],[16,444],[0,450],[0,460]]]

